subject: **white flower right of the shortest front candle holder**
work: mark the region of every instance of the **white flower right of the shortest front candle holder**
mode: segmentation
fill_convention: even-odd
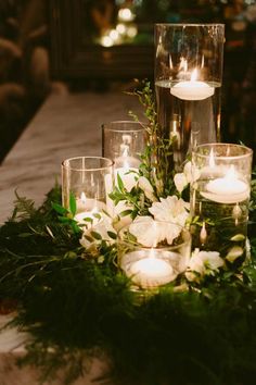
[[[223,260],[219,257],[218,251],[200,251],[200,249],[195,249],[190,259],[189,271],[185,273],[185,276],[189,281],[197,281],[197,274],[201,277],[204,275],[214,275],[214,272],[217,272],[222,265]]]

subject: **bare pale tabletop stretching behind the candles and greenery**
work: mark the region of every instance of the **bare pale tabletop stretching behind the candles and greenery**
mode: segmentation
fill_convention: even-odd
[[[0,166],[0,223],[13,209],[14,191],[42,202],[61,183],[61,162],[101,156],[101,124],[142,115],[138,99],[121,91],[51,95]]]

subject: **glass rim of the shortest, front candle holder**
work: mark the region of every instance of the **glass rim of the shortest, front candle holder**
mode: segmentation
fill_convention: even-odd
[[[184,226],[181,226],[181,225],[179,225],[179,224],[177,224],[177,223],[175,223],[175,222],[170,222],[170,221],[155,221],[154,220],[154,222],[155,223],[166,223],[166,224],[174,224],[175,226],[178,226],[178,227],[180,227],[180,234],[181,234],[181,232],[184,232],[185,233],[185,236],[187,236],[187,238],[188,239],[182,239],[182,241],[180,243],[180,244],[178,244],[178,245],[164,245],[164,246],[143,246],[142,244],[131,244],[129,240],[124,240],[124,239],[120,239],[119,238],[119,234],[121,233],[121,232],[124,232],[125,229],[127,229],[127,228],[129,228],[129,226],[132,224],[129,224],[129,225],[126,225],[126,226],[124,226],[124,227],[121,227],[118,232],[117,232],[117,244],[123,244],[123,245],[130,245],[130,246],[132,246],[135,249],[140,249],[140,250],[158,250],[158,251],[165,251],[165,250],[176,250],[177,248],[180,248],[180,247],[182,247],[182,246],[184,246],[184,245],[188,245],[188,244],[191,244],[191,239],[192,239],[192,237],[191,237],[191,233],[190,233],[190,231],[189,231],[189,228],[187,228],[187,227],[184,227]],[[180,234],[176,237],[176,238],[178,238],[179,236],[180,236]],[[175,238],[175,239],[176,239]],[[174,240],[175,240],[174,239]]]

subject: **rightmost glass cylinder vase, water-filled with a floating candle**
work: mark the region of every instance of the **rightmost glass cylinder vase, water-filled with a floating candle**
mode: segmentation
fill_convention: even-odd
[[[219,251],[227,263],[246,258],[253,151],[230,144],[206,144],[192,152],[193,247]]]

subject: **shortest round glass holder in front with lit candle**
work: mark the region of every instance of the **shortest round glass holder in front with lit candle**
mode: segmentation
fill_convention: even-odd
[[[137,231],[143,235],[137,237]],[[188,229],[170,222],[133,223],[118,232],[117,252],[118,264],[131,280],[132,289],[156,289],[187,269],[191,236]]]

